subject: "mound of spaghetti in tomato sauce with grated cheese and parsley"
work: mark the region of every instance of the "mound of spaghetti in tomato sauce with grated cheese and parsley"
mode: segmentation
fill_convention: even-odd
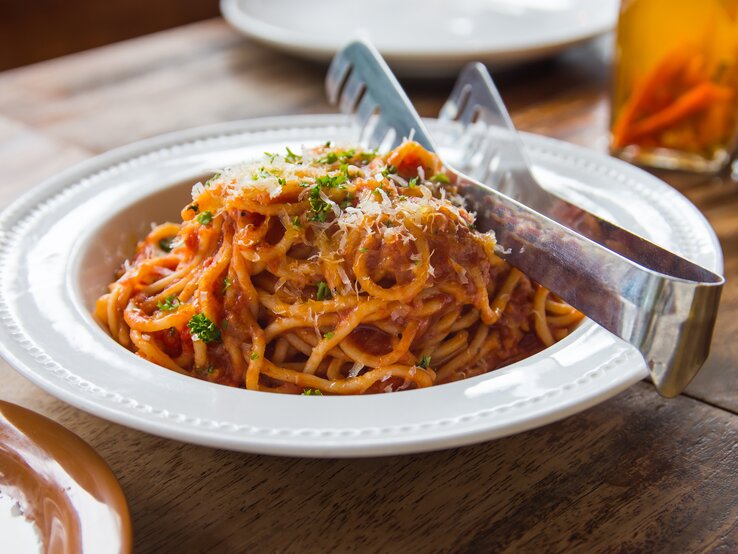
[[[439,159],[326,143],[266,153],[193,188],[95,315],[173,371],[250,390],[361,394],[488,372],[581,314],[474,228]]]

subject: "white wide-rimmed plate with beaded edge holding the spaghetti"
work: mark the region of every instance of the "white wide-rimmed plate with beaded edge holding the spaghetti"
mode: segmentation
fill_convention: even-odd
[[[458,155],[429,121],[443,154]],[[212,170],[289,145],[350,142],[342,116],[222,124],[119,148],[31,190],[0,215],[0,350],[34,383],[79,408],[165,437],[300,456],[418,452],[517,433],[605,400],[646,376],[638,353],[585,321],[507,368],[424,390],[284,396],[206,383],[149,363],[92,319],[94,298],[153,221],[172,219]],[[545,184],[720,271],[697,209],[623,162],[524,135]]]

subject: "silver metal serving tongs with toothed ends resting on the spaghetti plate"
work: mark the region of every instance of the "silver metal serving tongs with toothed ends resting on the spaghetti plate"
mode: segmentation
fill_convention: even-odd
[[[473,78],[478,77],[477,71]],[[478,168],[474,172],[479,179],[445,165],[477,212],[478,228],[495,231],[509,263],[633,344],[659,393],[678,395],[709,353],[724,279],[540,187],[504,105],[495,115],[484,87],[470,84],[465,75],[460,82],[444,117],[458,120],[462,129],[481,121],[483,132],[466,145],[462,164]],[[370,44],[356,41],[336,54],[326,91],[341,111],[356,115],[365,146],[393,148],[412,136],[438,153],[412,103]],[[494,88],[486,91],[496,94]],[[502,123],[495,123],[495,117]],[[475,137],[481,142],[475,143]],[[490,177],[504,193],[480,182]],[[567,215],[572,209],[578,214],[575,221]]]

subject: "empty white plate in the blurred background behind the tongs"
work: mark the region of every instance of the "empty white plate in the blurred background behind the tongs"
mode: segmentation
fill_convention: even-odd
[[[470,61],[540,58],[614,28],[618,0],[221,0],[223,16],[254,39],[327,61],[369,38],[393,68],[436,76]]]

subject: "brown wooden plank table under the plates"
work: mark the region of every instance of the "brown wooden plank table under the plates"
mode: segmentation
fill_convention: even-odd
[[[109,148],[204,123],[330,111],[325,69],[213,20],[0,74],[4,201]],[[609,68],[588,47],[506,73],[522,129],[604,151]],[[446,81],[406,83],[424,115]],[[363,460],[246,455],[161,439],[56,400],[0,364],[0,397],[108,461],[136,550],[738,551],[738,181],[667,179],[717,230],[728,283],[712,356],[687,393],[646,382],[494,442]],[[183,548],[186,546],[186,549]]]

